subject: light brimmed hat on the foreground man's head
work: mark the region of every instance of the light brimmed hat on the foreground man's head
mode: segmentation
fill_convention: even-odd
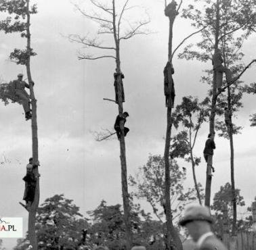
[[[190,205],[185,209],[184,218],[179,221],[179,225],[185,226],[188,222],[194,220],[205,220],[209,223],[213,223],[209,207],[202,205]]]

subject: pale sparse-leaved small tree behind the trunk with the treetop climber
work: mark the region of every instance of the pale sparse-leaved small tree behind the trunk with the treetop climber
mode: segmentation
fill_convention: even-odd
[[[173,160],[170,168],[171,176],[171,204],[173,220],[182,213],[184,206],[194,201],[194,189],[184,189],[186,169],[179,169],[177,161]],[[164,217],[165,190],[165,161],[161,155],[150,155],[148,162],[140,167],[135,177],[129,176],[129,185],[135,188],[131,195],[137,199],[146,199],[152,206],[154,214],[159,220]]]

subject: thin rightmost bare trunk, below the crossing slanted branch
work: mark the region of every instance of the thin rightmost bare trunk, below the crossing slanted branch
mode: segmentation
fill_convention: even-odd
[[[231,107],[230,86],[228,87],[228,109]],[[232,129],[232,117],[230,118],[230,124],[228,125],[228,134],[230,137],[230,173],[231,173],[231,193],[233,203],[233,220],[232,220],[232,235],[236,235],[236,190],[234,182],[234,144],[233,144],[233,129]]]

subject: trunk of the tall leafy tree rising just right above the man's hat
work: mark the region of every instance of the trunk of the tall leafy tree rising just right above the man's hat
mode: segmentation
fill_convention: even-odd
[[[219,45],[219,0],[216,0],[216,26],[215,26],[215,45],[214,49],[218,48]],[[217,82],[216,72],[213,73],[213,97],[211,100],[211,115],[210,115],[210,134],[215,134],[215,114],[216,114],[216,103],[217,103]],[[208,168],[208,166],[207,166]],[[205,205],[210,206],[211,203],[211,175],[206,173],[206,184],[205,184]]]

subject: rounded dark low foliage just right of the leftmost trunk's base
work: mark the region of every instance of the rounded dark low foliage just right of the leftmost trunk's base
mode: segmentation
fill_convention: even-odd
[[[79,213],[79,207],[64,195],[48,198],[37,210],[36,234],[39,249],[78,249],[82,230],[87,220]],[[26,249],[27,239],[18,241],[15,250]]]

